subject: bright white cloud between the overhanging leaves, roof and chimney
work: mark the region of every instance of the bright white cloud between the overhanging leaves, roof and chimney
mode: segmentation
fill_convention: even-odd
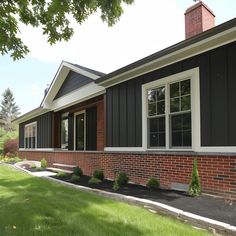
[[[30,57],[46,62],[67,60],[103,72],[110,72],[172,45],[184,37],[183,12],[174,0],[136,0],[124,7],[113,27],[94,14],[82,25],[73,23],[69,42],[50,46],[42,30],[21,26]]]

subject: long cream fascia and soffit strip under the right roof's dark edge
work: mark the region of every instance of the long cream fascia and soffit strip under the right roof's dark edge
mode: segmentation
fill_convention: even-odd
[[[187,58],[199,55],[214,48],[226,45],[236,40],[236,27],[216,34],[207,39],[201,40],[195,44],[184,47],[173,53],[167,54],[163,57],[157,58],[151,62],[138,66],[134,69],[128,70],[124,73],[114,76],[111,79],[105,80],[100,85],[109,88],[124,81],[133,79],[137,76],[146,74],[148,72],[163,68],[165,66],[174,64],[176,62],[185,60]]]

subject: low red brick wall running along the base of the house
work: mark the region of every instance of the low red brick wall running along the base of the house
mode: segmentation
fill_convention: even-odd
[[[45,158],[50,165],[54,162],[78,165],[86,175],[102,169],[110,179],[114,179],[117,171],[125,171],[132,182],[144,185],[149,177],[155,176],[163,188],[170,188],[173,182],[188,184],[193,159],[197,158],[202,191],[236,200],[236,156],[21,151],[20,157]]]

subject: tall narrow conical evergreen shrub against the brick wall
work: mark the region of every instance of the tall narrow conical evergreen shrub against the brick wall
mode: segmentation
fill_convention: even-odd
[[[198,175],[197,159],[193,161],[192,178],[189,185],[189,195],[198,196],[201,194],[200,178]]]

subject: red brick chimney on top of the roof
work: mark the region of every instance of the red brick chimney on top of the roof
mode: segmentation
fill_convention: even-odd
[[[215,26],[213,11],[202,1],[189,7],[184,14],[186,39]]]

